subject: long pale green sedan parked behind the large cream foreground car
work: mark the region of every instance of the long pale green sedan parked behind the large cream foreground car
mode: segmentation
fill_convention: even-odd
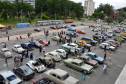
[[[93,71],[93,66],[88,65],[83,62],[83,60],[80,59],[73,59],[73,58],[68,58],[63,61],[64,64],[70,68],[73,68],[75,70],[84,72],[85,74],[89,74]]]

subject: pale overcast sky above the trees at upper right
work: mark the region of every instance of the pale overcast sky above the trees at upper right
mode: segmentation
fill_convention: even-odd
[[[84,4],[85,0],[71,0],[74,2],[82,2]],[[111,4],[114,9],[126,7],[126,0],[93,0],[95,2],[95,8],[99,6],[100,3],[106,4],[109,3]]]

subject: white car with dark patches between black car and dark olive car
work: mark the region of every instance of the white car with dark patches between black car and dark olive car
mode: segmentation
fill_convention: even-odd
[[[27,66],[29,66],[32,70],[37,71],[37,72],[43,72],[46,70],[46,67],[34,60],[30,60],[26,63]]]

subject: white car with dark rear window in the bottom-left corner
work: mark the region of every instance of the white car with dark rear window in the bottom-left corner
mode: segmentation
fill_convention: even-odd
[[[0,71],[0,84],[23,84],[12,71]]]

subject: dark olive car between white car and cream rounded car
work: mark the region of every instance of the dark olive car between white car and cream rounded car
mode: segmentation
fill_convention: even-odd
[[[55,67],[55,62],[53,61],[51,57],[41,57],[41,58],[36,59],[36,61],[42,63],[47,68]]]

